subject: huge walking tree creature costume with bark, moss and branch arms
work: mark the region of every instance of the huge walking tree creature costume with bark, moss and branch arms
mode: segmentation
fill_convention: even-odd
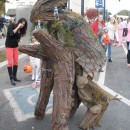
[[[40,95],[35,116],[44,118],[53,90],[53,130],[68,130],[68,119],[82,102],[88,109],[80,125],[89,129],[100,124],[111,97],[93,78],[105,63],[105,51],[82,16],[65,11],[67,0],[39,0],[33,7],[31,22],[46,21],[47,31],[33,32],[40,45],[24,45],[21,52],[42,60]],[[59,20],[54,18],[54,8]]]

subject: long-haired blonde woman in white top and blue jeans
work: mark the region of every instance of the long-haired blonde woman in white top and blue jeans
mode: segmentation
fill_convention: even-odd
[[[108,62],[112,62],[112,60],[111,60],[111,46],[113,44],[114,34],[115,34],[115,31],[114,31],[114,20],[115,20],[115,18],[112,17],[110,22],[107,25],[108,35],[109,35],[109,38],[110,38],[110,41],[111,41],[111,43],[106,46],[108,48]]]

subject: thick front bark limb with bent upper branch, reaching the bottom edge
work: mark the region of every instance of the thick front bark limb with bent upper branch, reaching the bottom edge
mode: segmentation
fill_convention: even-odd
[[[43,50],[45,50],[44,53],[53,63],[53,130],[67,130],[75,77],[73,53],[42,30],[34,32],[34,36],[41,43]]]

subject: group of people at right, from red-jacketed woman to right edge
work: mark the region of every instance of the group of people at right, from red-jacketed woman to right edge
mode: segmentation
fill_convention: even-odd
[[[127,67],[130,67],[130,18],[127,20],[124,19],[123,21],[122,18],[116,20],[114,17],[111,17],[106,23],[104,23],[103,16],[99,14],[93,22],[88,20],[87,22],[90,24],[105,52],[108,50],[108,62],[112,62],[112,45],[122,47],[123,36],[126,36],[128,49]],[[103,72],[102,68],[99,72]]]

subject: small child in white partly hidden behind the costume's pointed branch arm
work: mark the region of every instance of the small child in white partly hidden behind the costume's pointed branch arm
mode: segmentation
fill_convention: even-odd
[[[32,45],[38,44],[34,36],[31,37]],[[30,64],[32,65],[32,81],[37,81],[40,73],[40,59],[30,56]]]

